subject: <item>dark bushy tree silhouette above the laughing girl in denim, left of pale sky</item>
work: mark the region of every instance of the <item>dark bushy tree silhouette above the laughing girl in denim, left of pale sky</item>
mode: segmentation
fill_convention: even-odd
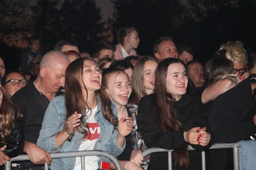
[[[74,38],[79,47],[90,49],[105,38],[108,28],[94,0],[64,0],[60,9],[59,38]],[[105,33],[103,35],[103,33]]]

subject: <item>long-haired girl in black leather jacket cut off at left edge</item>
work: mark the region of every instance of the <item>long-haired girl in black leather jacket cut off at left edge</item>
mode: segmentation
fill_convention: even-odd
[[[0,169],[6,160],[23,152],[25,142],[23,116],[19,109],[3,94],[0,83]]]

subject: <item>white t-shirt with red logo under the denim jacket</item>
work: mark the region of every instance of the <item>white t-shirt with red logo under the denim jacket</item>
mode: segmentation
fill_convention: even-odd
[[[96,111],[97,111],[97,106],[92,110],[91,115],[90,115],[90,111],[87,113],[88,116],[90,115],[89,118],[87,117],[87,121],[86,121],[87,124],[89,125],[90,135],[88,133],[87,136],[84,136],[84,139],[83,139],[84,142],[81,143],[78,151],[93,150],[94,145],[99,138],[99,133],[100,133],[99,124],[94,119]],[[90,138],[89,138],[89,136],[90,136]],[[88,156],[88,157],[84,157],[84,160],[85,160],[85,169],[86,170],[98,169],[97,162],[99,160],[99,157]],[[74,170],[81,170],[81,157],[76,157]]]

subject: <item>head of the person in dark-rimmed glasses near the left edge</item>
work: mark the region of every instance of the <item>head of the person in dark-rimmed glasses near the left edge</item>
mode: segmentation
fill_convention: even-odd
[[[19,72],[10,72],[2,78],[3,91],[7,98],[11,98],[19,89],[29,84],[25,76]]]

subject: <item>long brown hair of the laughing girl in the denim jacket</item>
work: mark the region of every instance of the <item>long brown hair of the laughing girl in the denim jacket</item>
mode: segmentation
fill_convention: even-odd
[[[84,84],[84,81],[82,81],[82,85],[81,85],[85,60],[93,61],[96,65],[98,65],[95,60],[89,57],[78,58],[72,63],[70,63],[66,69],[65,95],[66,95],[66,109],[67,109],[66,121],[72,114],[75,113],[75,111],[77,111],[77,113],[82,114],[80,125],[75,128],[75,131],[87,135],[89,133],[89,130],[88,130],[89,126],[86,122],[86,119],[83,119],[83,118],[92,108],[90,108],[90,106],[87,103],[88,94],[87,94],[87,88],[86,88],[86,85]],[[86,90],[86,100],[84,100],[84,93],[82,92],[82,86]],[[101,99],[101,101],[105,101],[105,97],[103,95],[104,91],[105,90],[100,89],[95,92],[95,95],[98,96]],[[110,111],[111,103],[106,105],[102,103],[102,108],[109,108],[109,109],[103,109],[103,116],[112,125],[117,126],[113,113]],[[86,112],[86,110],[88,111]],[[66,124],[64,125],[63,129],[66,129]],[[68,140],[70,141],[73,136],[74,135],[72,135]]]

